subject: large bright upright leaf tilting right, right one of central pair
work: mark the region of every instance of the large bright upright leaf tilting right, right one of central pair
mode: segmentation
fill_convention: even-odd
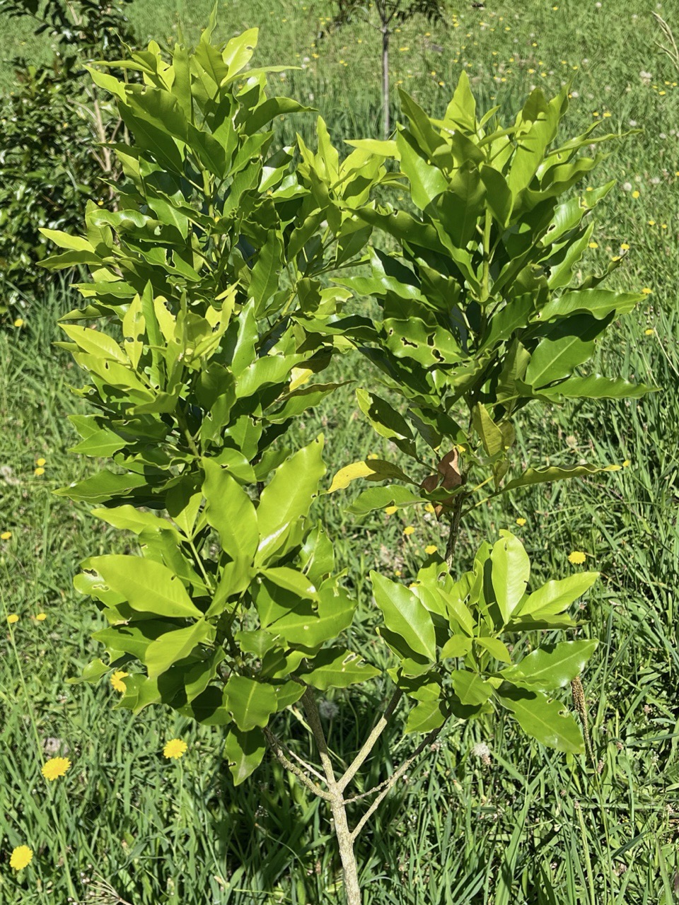
[[[259,563],[282,547],[292,523],[308,514],[325,473],[322,451],[321,435],[283,462],[263,489],[257,509]]]

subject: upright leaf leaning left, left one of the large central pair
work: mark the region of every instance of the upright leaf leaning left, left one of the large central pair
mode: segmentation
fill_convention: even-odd
[[[253,501],[229,472],[209,459],[201,460],[206,474],[203,494],[206,519],[219,534],[222,549],[234,560],[251,562],[259,544]]]

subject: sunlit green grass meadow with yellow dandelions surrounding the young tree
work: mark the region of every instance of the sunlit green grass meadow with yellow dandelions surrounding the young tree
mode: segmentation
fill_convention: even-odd
[[[130,17],[142,40],[172,38],[177,21],[193,39],[210,6],[136,0]],[[259,62],[304,67],[284,73],[281,92],[312,101],[338,141],[378,135],[378,43],[369,28],[317,41],[329,13],[320,0],[229,0],[219,11],[225,38],[261,27]],[[567,558],[573,549],[587,554],[585,567],[601,571],[580,630],[601,640],[583,677],[595,762],[532,745],[502,716],[452,726],[363,838],[359,862],[371,905],[677,900],[679,71],[655,46],[653,12],[679,40],[679,8],[648,0],[464,4],[456,27],[416,22],[395,35],[393,81],[428,110],[445,106],[464,67],[483,108],[515,110],[532,85],[553,93],[572,79],[573,134],[593,119],[604,131],[643,129],[611,147],[599,171],[595,185],[609,178],[618,185],[590,254],[605,268],[622,248],[627,260],[615,287],[651,291],[599,350],[605,373],[655,383],[662,393],[531,410],[519,434],[523,460],[628,464],[601,480],[515,491],[479,507],[460,548],[466,563],[481,539],[512,526],[538,578],[577,568]],[[30,30],[12,21],[0,31],[0,57],[15,41],[26,41],[28,56],[40,51]],[[9,83],[5,67],[3,90]],[[310,121],[286,119],[278,128],[287,137],[294,128],[306,134]],[[265,763],[253,784],[236,789],[217,732],[160,710],[130,719],[112,709],[110,685],[66,683],[91,658],[99,626],[72,590],[72,576],[82,557],[128,543],[52,494],[91,467],[67,452],[74,434],[66,414],[79,407],[69,387],[79,376],[52,346],[67,306],[72,297],[55,285],[35,301],[23,329],[0,336],[0,603],[5,616],[19,616],[0,638],[0,901],[330,905],[339,898],[339,873],[324,805],[276,764]],[[350,386],[301,426],[307,440],[320,430],[330,441],[330,472],[380,452]],[[44,473],[35,474],[42,458]],[[435,524],[418,520],[406,538],[398,515],[357,523],[334,498],[319,510],[361,595],[365,627],[354,630],[352,643],[381,663],[360,576],[379,562],[407,578],[438,539]],[[363,736],[381,691],[358,701],[334,693],[330,738],[339,753]],[[294,736],[296,718],[286,719]],[[162,757],[173,737],[188,743],[180,761]],[[370,780],[407,751],[411,742],[397,745],[397,738],[386,738],[370,762]],[[473,755],[479,742],[491,749],[490,765]],[[66,754],[72,768],[47,785],[40,767],[50,753]],[[9,853],[24,843],[35,855],[17,877]]]

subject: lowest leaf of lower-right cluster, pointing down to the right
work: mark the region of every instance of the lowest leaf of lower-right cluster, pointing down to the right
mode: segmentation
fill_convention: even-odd
[[[512,710],[521,729],[542,745],[584,754],[585,744],[579,726],[559,700],[549,700],[540,691],[528,691],[512,685],[502,685],[498,698],[507,710]]]

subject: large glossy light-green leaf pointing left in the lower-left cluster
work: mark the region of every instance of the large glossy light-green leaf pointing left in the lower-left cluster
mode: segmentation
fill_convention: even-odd
[[[177,576],[161,563],[142,557],[91,557],[83,568],[96,570],[110,590],[123,595],[133,610],[159,616],[203,615]]]

